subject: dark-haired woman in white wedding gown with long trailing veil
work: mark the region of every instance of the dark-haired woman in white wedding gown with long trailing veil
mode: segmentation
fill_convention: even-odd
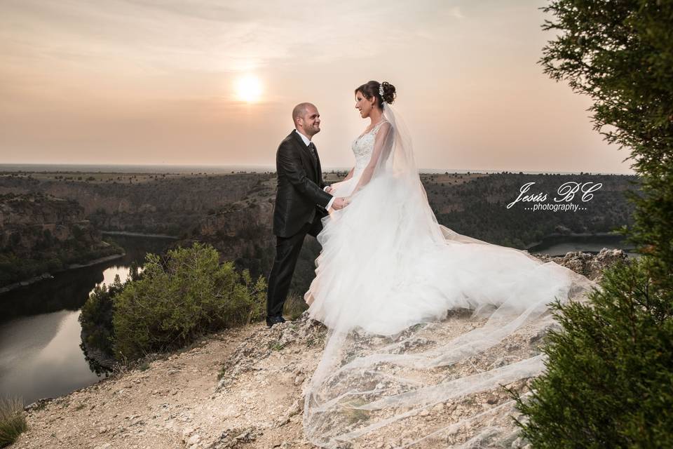
[[[304,432],[325,448],[511,447],[515,409],[501,386],[525,393],[544,369],[548,304],[598,285],[438,224],[395,96],[386,82],[355,89],[369,126],[353,170],[327,188],[348,206],[322,219],[304,296],[328,328]]]

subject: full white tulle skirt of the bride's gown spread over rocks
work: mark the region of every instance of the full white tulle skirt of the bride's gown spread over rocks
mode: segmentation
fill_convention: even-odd
[[[568,295],[576,277],[571,270],[428,220],[424,192],[398,192],[409,187],[396,181],[372,180],[346,208],[323,219],[322,252],[304,295],[313,319],[328,328],[392,335],[441,320],[451,309],[520,312]],[[357,182],[356,173],[333,194],[348,196]]]

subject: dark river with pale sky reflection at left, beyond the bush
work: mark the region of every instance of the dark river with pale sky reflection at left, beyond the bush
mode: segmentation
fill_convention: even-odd
[[[170,239],[105,235],[126,255],[90,267],[60,272],[53,279],[0,295],[0,395],[23,399],[56,397],[94,384],[94,373],[80,348],[81,307],[94,287],[128,277],[132,261],[161,253]]]

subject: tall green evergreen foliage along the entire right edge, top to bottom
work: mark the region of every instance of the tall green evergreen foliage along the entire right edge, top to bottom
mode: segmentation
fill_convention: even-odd
[[[641,192],[620,232],[642,254],[587,303],[554,304],[547,371],[515,394],[536,448],[673,447],[673,2],[555,0],[545,73],[590,95],[594,128],[631,149]],[[626,159],[625,159],[626,160]]]

